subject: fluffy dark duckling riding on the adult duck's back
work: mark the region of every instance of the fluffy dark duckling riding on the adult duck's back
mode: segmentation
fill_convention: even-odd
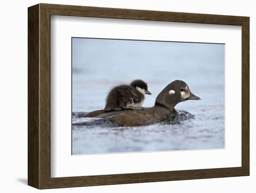
[[[151,92],[148,91],[147,83],[142,80],[134,80],[130,85],[116,86],[108,93],[104,111],[140,109],[145,94],[151,95]]]

